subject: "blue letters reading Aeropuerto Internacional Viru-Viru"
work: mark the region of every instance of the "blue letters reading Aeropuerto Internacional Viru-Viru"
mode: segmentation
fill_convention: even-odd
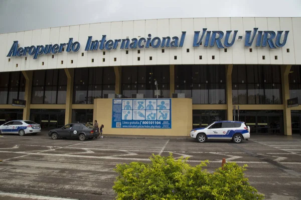
[[[245,42],[244,46],[251,46],[253,41],[255,41],[255,46],[266,46],[268,45],[270,48],[282,47],[285,45],[289,30],[284,32],[284,37],[281,41],[281,35],[283,31],[279,30],[277,33],[271,30],[258,31],[258,28],[253,28],[252,30],[245,31]],[[232,34],[232,30],[227,30],[226,34],[221,30],[208,31],[207,28],[203,28],[203,31],[195,31],[192,46],[199,47],[201,45],[214,46],[217,45],[218,48],[225,48],[233,46],[236,41],[238,30],[233,31],[233,36],[231,41],[229,38]],[[102,35],[100,40],[92,40],[92,36],[88,36],[85,51],[90,50],[111,50],[111,49],[128,49],[128,48],[159,48],[159,47],[183,47],[185,41],[186,31],[182,31],[181,37],[178,36],[166,36],[166,37],[154,37],[152,38],[152,34],[148,34],[147,37],[140,38],[123,38],[123,39],[108,39],[107,35]],[[225,36],[225,37],[224,37]],[[224,37],[224,42],[222,42],[222,38]],[[241,39],[243,36],[239,36]],[[77,52],[80,48],[80,43],[78,41],[73,42],[73,38],[70,37],[67,43],[60,44],[46,44],[44,45],[32,45],[26,47],[19,47],[19,41],[14,41],[9,53],[10,56],[23,56],[33,55],[34,59],[37,59],[38,55],[48,54],[48,53],[60,53],[63,51],[64,47],[66,47],[66,52]]]

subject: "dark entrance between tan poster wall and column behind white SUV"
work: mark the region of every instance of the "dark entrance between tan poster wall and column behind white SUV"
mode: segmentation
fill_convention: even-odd
[[[226,120],[227,110],[194,109],[192,111],[192,127],[206,127],[213,121]]]

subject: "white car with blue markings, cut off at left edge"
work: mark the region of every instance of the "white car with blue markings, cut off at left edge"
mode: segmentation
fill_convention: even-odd
[[[13,120],[0,125],[1,133],[18,133],[23,136],[25,134],[37,134],[41,132],[40,124],[30,120]]]

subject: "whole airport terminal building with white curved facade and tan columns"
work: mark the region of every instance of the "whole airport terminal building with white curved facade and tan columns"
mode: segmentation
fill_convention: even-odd
[[[189,135],[216,120],[301,133],[301,17],[171,18],[0,34],[0,124]],[[234,108],[235,106],[235,108]],[[237,109],[239,107],[239,110]]]

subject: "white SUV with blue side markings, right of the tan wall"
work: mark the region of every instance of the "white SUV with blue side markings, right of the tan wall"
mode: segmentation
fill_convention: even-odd
[[[207,139],[229,139],[235,143],[250,138],[250,127],[243,121],[215,121],[206,127],[194,128],[190,136],[198,142]]]

